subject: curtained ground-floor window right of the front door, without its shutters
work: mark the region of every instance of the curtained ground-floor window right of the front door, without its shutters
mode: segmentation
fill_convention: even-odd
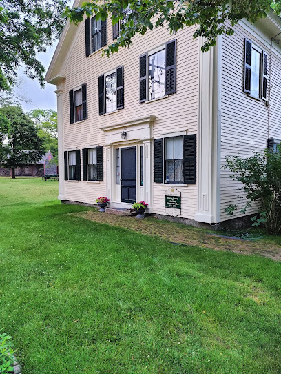
[[[183,183],[183,137],[165,139],[165,183]]]

